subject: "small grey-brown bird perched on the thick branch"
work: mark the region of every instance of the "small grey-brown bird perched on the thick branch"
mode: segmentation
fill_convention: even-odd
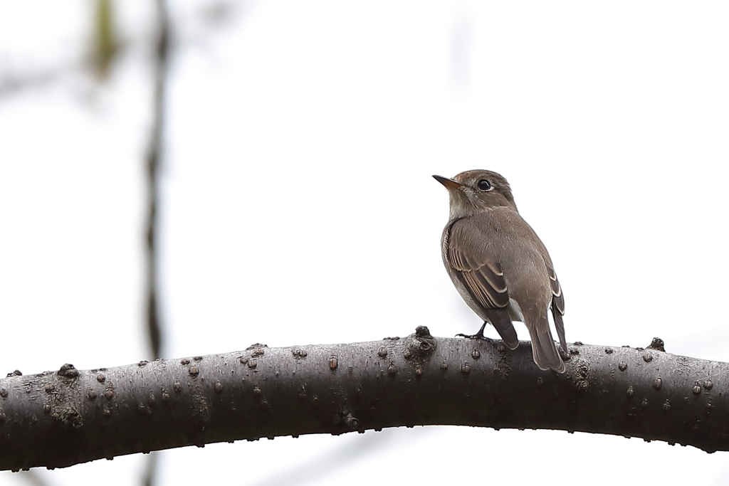
[[[542,240],[519,215],[509,183],[491,171],[461,172],[453,179],[433,176],[451,195],[451,218],[443,230],[443,263],[453,285],[483,319],[476,334],[484,339],[491,323],[509,349],[519,345],[512,320],[522,321],[531,336],[539,369],[564,373],[564,361],[550,332],[552,308],[562,349],[564,297]]]

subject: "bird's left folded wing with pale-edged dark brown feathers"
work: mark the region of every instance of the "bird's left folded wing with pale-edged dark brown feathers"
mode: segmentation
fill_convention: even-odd
[[[474,302],[483,308],[488,322],[499,332],[504,344],[515,349],[519,340],[507,309],[509,291],[502,265],[488,255],[485,246],[479,244],[472,244],[466,249],[454,246],[451,240],[446,256],[457,278]]]

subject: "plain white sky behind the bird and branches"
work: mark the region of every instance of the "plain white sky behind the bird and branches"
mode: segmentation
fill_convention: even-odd
[[[569,342],[659,336],[671,353],[729,361],[728,4],[260,1],[233,3],[208,31],[206,2],[171,3],[165,356],[421,324],[475,332],[440,260],[448,197],[431,175],[488,168],[550,250]],[[3,373],[149,357],[153,17],[151,2],[115,5],[128,49],[107,85],[77,74],[0,98]],[[0,83],[79,59],[89,7],[0,1]],[[188,447],[160,461],[163,486],[729,482],[727,453],[455,427]],[[133,485],[143,468],[133,455],[41,472],[53,485]],[[27,483],[0,473],[6,484]]]

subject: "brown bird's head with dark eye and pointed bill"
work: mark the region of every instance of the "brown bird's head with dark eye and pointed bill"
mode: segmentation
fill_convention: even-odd
[[[451,195],[451,219],[473,216],[489,209],[507,207],[516,211],[511,187],[492,171],[466,171],[453,179],[433,176]]]

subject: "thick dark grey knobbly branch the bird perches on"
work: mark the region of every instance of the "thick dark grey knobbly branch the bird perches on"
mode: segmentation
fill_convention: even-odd
[[[729,450],[729,364],[575,343],[431,337],[266,348],[0,380],[0,469],[171,447],[416,425],[553,428]]]

